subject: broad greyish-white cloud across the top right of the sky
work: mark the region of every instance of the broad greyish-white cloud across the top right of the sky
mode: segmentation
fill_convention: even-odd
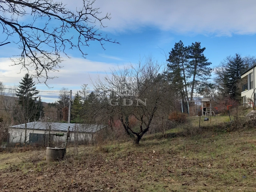
[[[75,1],[75,2],[74,2]],[[81,1],[63,0],[69,8],[80,6]],[[254,0],[97,0],[103,14],[112,19],[104,24],[113,32],[138,31],[141,27],[157,27],[182,34],[255,34],[256,1]]]

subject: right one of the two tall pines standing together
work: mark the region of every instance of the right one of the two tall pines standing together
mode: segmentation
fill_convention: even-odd
[[[204,56],[204,50],[205,47],[201,48],[200,42],[195,42],[188,46],[189,72],[193,77],[191,82],[191,101],[193,100],[196,83],[206,82],[211,76],[212,68],[208,67],[211,65],[211,62],[208,62],[208,59]]]

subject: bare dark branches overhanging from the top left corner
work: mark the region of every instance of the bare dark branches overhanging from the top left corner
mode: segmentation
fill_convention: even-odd
[[[14,56],[13,65],[35,70],[34,77],[54,78],[48,72],[58,70],[62,61],[61,52],[67,56],[67,49],[77,48],[82,56],[87,55],[85,46],[97,41],[118,43],[102,35],[96,25],[105,27],[103,21],[111,19],[110,14],[99,17],[99,8],[93,8],[95,0],[82,0],[76,12],[70,11],[62,2],[51,0],[0,0],[0,46],[13,40],[21,50]],[[69,34],[69,33],[73,34]],[[18,39],[18,40],[17,40]]]

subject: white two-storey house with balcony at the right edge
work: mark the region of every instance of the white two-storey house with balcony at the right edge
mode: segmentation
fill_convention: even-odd
[[[255,103],[255,72],[256,65],[247,69],[241,74],[241,79],[243,80],[241,96],[243,98],[243,103]]]

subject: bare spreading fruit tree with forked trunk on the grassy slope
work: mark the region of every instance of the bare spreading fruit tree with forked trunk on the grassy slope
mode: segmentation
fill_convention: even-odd
[[[119,120],[127,134],[134,137],[138,144],[142,136],[150,129],[151,122],[159,106],[163,105],[167,92],[171,90],[163,73],[163,65],[151,57],[145,63],[113,70],[104,81],[94,83],[99,100],[94,108],[96,118]],[[131,125],[131,118],[137,124]]]

